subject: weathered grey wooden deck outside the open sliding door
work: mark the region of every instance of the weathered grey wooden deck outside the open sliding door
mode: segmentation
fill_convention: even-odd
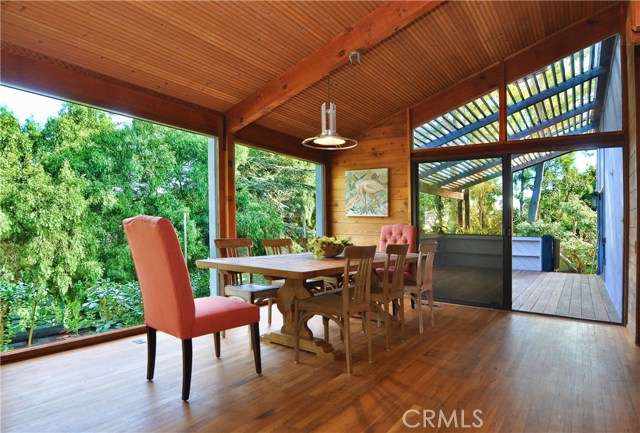
[[[599,275],[514,271],[512,283],[514,310],[621,321]]]

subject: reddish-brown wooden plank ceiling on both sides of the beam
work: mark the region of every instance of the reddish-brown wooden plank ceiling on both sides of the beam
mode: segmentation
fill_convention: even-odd
[[[384,6],[377,1],[3,1],[3,50],[21,48],[226,112]],[[612,5],[447,2],[331,73],[338,132],[371,125]],[[255,123],[316,135],[325,80]]]

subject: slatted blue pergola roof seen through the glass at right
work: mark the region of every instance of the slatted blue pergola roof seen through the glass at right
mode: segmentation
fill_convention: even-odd
[[[600,117],[610,84],[614,46],[615,38],[608,38],[510,83],[506,110],[508,139],[601,132]],[[498,141],[497,99],[498,92],[490,92],[418,126],[413,130],[414,146],[433,149]],[[564,153],[513,155],[511,171],[543,164]],[[502,161],[496,158],[421,164],[420,190],[463,200],[462,191],[499,177],[501,165]],[[541,173],[537,171],[537,175]],[[534,195],[539,192],[534,191]]]

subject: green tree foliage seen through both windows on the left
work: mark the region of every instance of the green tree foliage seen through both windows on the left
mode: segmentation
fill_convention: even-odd
[[[209,273],[207,138],[63,104],[44,127],[0,109],[0,327],[55,321],[77,332],[142,321],[122,220],[160,215],[183,237],[196,296]],[[312,164],[238,146],[238,234],[300,237],[315,226]],[[64,306],[63,309],[60,307]],[[15,318],[18,320],[15,320]]]

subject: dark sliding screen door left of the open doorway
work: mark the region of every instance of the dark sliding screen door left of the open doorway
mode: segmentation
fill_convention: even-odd
[[[418,164],[420,242],[437,241],[434,294],[504,306],[502,158]]]

